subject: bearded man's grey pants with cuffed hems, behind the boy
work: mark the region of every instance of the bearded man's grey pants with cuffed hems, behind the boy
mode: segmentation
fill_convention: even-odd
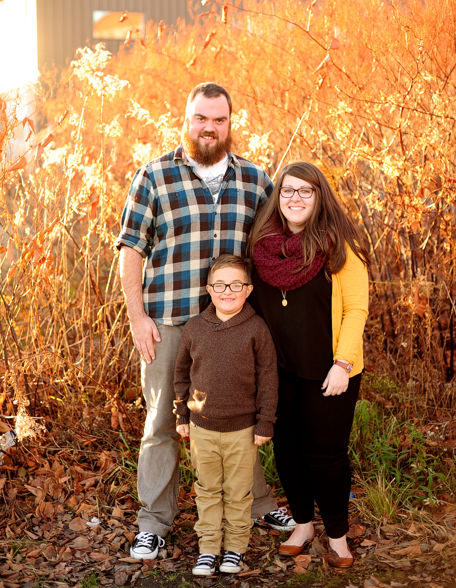
[[[139,531],[167,536],[178,512],[181,436],[172,413],[174,366],[183,326],[157,325],[161,342],[155,343],[152,363],[141,360],[142,392],[147,417],[138,459]],[[254,467],[252,518],[277,509],[271,487],[264,479],[258,454]]]

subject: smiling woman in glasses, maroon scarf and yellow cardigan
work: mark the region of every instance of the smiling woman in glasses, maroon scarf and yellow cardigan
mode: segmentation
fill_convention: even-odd
[[[314,536],[314,500],[337,567],[347,546],[348,442],[361,383],[369,256],[351,217],[315,165],[285,166],[248,240],[251,305],[277,348],[274,425],[278,474],[297,525],[279,553]],[[335,561],[334,561],[335,560]]]

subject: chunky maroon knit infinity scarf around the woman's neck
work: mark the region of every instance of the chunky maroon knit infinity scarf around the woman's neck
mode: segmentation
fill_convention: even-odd
[[[285,252],[289,256],[286,258],[282,255],[283,242],[285,242]],[[301,266],[304,256],[301,233],[291,232],[267,236],[259,240],[255,244],[253,258],[258,275],[263,282],[281,290],[294,290],[309,282],[315,278],[326,261],[324,253],[318,249],[311,265],[301,272],[292,273]]]

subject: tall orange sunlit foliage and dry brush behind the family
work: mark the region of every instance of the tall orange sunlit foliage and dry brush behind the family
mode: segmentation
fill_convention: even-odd
[[[189,90],[212,80],[231,94],[235,151],[271,176],[314,162],[358,220],[374,262],[368,369],[416,406],[454,411],[456,0],[201,4],[194,24],[149,23],[117,56],[81,49],[59,85],[43,76],[38,165],[28,176],[1,158],[0,245],[15,268],[4,331],[29,312],[8,361],[52,348],[71,360],[68,393],[87,373],[115,394],[134,382],[113,248],[122,205],[135,169],[179,142]],[[55,219],[49,253],[27,258]]]

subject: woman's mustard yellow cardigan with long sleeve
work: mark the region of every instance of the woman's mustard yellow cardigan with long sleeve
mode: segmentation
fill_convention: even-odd
[[[362,333],[368,315],[367,268],[347,245],[347,262],[332,277],[332,351],[334,359],[353,364],[350,376],[361,373]]]

